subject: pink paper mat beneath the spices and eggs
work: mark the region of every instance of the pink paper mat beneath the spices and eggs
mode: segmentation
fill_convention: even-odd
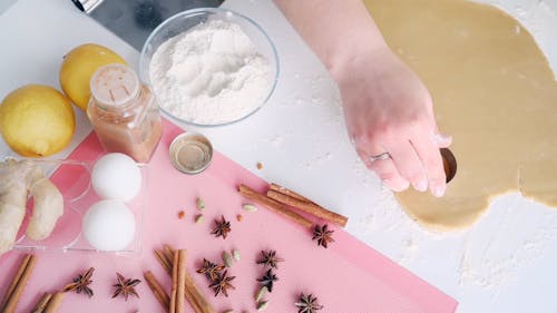
[[[29,312],[43,292],[61,288],[81,271],[94,266],[95,296],[68,294],[60,312],[164,312],[145,282],[137,292],[140,299],[111,299],[116,272],[127,277],[140,278],[143,272],[153,271],[166,286],[169,278],[153,256],[153,248],[164,243],[187,248],[188,271],[216,312],[255,312],[256,278],[265,270],[255,264],[262,250],[275,250],[285,260],[275,271],[280,281],[266,296],[270,305],[265,312],[296,312],[293,305],[301,292],[312,293],[324,305],[320,312],[455,312],[457,302],[401,266],[359,242],[343,229],[334,228],[334,243],[329,248],[311,241],[311,232],[260,207],[255,213],[242,209],[246,202],[236,193],[238,184],[264,190],[266,183],[248,170],[215,153],[207,170],[188,176],[175,170],[168,159],[168,146],[182,130],[166,121],[165,134],[148,166],[148,195],[143,225],[143,251],[135,256],[106,253],[38,252],[38,264],[25,290],[18,312]],[[94,134],[68,157],[95,160],[102,154]],[[71,177],[60,170],[52,177],[61,189],[69,188]],[[194,224],[201,212],[195,206],[203,197],[205,221]],[[177,213],[186,212],[184,219]],[[237,222],[236,215],[243,221]],[[214,219],[224,215],[232,223],[226,239],[211,235]],[[205,277],[195,273],[202,260],[221,261],[223,250],[240,251],[242,258],[228,268],[236,278],[229,296],[213,296]],[[0,257],[0,295],[6,292],[20,251]],[[193,312],[188,306],[186,312]]]

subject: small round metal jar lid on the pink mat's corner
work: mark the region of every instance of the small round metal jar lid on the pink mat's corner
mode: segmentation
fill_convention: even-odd
[[[179,172],[198,174],[211,164],[213,146],[202,134],[184,133],[172,141],[169,156],[173,166]]]

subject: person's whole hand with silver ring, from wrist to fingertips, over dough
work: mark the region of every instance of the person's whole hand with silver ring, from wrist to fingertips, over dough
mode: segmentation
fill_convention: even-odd
[[[446,190],[440,135],[426,86],[387,46],[353,53],[333,72],[350,137],[360,158],[395,192],[411,184],[434,196]],[[375,159],[388,153],[389,158]]]

